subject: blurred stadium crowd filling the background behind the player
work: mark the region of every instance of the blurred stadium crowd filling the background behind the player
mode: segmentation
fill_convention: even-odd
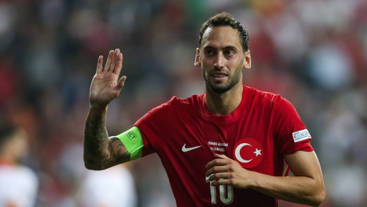
[[[90,175],[82,158],[98,56],[106,61],[115,48],[124,56],[127,81],[107,117],[109,135],[117,135],[172,96],[204,92],[194,67],[199,28],[221,11],[250,33],[245,85],[281,94],[309,129],[323,168],[323,206],[365,206],[366,10],[364,0],[1,0],[0,124],[28,134],[22,163],[40,181],[35,206],[89,206],[93,193],[85,188],[98,185],[85,183],[103,177]],[[135,181],[135,188],[124,183],[136,196],[131,206],[175,205],[158,156],[120,167]]]

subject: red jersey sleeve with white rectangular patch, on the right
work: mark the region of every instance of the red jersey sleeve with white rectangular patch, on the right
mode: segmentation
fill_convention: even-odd
[[[291,154],[299,150],[313,151],[311,135],[294,106],[280,97],[276,107],[273,121],[280,153]]]

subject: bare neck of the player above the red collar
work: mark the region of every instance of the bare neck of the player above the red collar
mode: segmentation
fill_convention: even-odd
[[[240,83],[225,93],[213,92],[206,86],[206,107],[215,115],[229,115],[240,105],[242,93],[243,85]]]

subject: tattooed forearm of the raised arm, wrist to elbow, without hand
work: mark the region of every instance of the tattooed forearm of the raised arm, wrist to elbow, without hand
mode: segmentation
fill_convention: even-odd
[[[88,169],[105,169],[104,163],[111,156],[106,130],[107,107],[90,106],[83,135],[83,158]]]

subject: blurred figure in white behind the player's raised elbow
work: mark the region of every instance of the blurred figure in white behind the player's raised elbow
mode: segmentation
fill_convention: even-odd
[[[71,142],[60,154],[60,179],[72,186],[73,192],[61,203],[79,207],[136,207],[138,196],[130,163],[102,171],[85,169],[83,143]],[[60,206],[63,206],[60,205]]]

